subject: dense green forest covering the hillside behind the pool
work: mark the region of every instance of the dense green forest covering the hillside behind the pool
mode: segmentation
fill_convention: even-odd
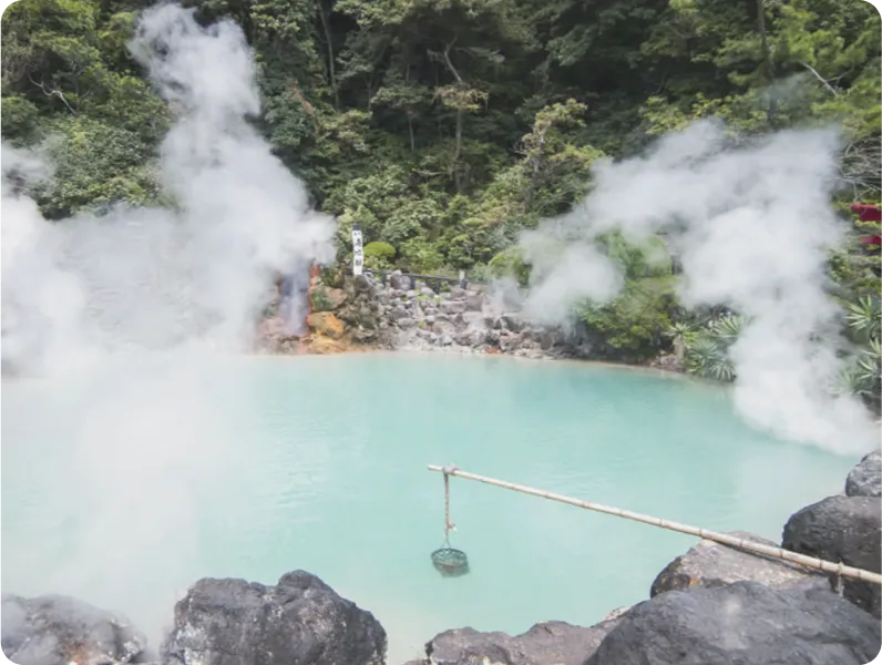
[[[57,177],[33,193],[50,219],[162,203],[155,147],[170,112],[126,49],[143,3],[12,0],[0,14],[0,137],[50,151]],[[523,279],[513,241],[583,196],[593,162],[711,115],[745,136],[837,121],[848,185],[837,204],[882,191],[882,13],[870,0],[189,4],[243,28],[257,122],[338,217],[341,257],[358,223],[375,266]],[[731,378],[738,321],[678,317],[666,276],[619,254],[624,294],[583,313],[611,352],[674,348]],[[832,262],[865,345],[882,331],[874,260],[855,245]],[[882,346],[866,348],[864,390],[882,360]]]

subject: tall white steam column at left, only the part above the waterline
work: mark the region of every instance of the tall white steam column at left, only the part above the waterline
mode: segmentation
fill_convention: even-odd
[[[178,209],[50,225],[4,183],[3,304],[23,309],[4,321],[11,364],[32,369],[27,342],[38,338],[42,369],[74,351],[247,348],[274,272],[332,257],[331,219],[310,209],[302,183],[247,122],[259,101],[239,28],[204,29],[164,6],[144,14],[132,52],[178,113],[161,147]],[[35,170],[25,155],[0,152],[3,172],[20,166]]]

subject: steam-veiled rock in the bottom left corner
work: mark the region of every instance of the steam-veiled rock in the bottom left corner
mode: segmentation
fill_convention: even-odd
[[[146,640],[121,616],[66,596],[0,595],[0,663],[143,663]]]

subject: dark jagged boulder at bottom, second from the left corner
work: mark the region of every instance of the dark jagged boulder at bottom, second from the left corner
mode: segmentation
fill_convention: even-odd
[[[383,665],[386,632],[304,571],[276,586],[206,579],[175,605],[163,655],[187,665]]]

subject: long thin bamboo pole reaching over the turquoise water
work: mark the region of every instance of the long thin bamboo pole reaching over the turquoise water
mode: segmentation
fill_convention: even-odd
[[[813,570],[823,571],[825,573],[833,573],[841,577],[850,577],[852,580],[860,580],[861,582],[870,582],[872,584],[882,585],[882,575],[880,575],[879,573],[872,573],[870,571],[852,567],[850,565],[844,565],[842,563],[833,563],[831,561],[824,561],[823,559],[817,559],[814,556],[806,556],[804,554],[798,554],[797,552],[791,552],[790,550],[773,548],[771,545],[763,545],[762,543],[757,543],[750,540],[735,538],[734,535],[729,535],[726,533],[719,533],[717,531],[708,531],[707,529],[699,529],[698,526],[680,524],[678,522],[671,522],[669,520],[662,520],[659,518],[644,515],[640,513],[632,512],[629,510],[623,510],[621,508],[609,508],[608,505],[601,505],[599,503],[593,503],[591,501],[581,501],[578,499],[571,499],[570,497],[564,497],[563,494],[555,494],[554,492],[546,492],[544,490],[537,490],[535,488],[515,484],[513,482],[507,482],[504,480],[496,480],[494,478],[488,478],[485,475],[478,475],[476,473],[469,473],[468,471],[460,471],[457,467],[439,467],[437,464],[429,464],[429,470],[439,471],[444,475],[453,475],[457,478],[464,478],[466,480],[475,480],[478,482],[483,482],[485,484],[494,485],[498,488],[513,490],[515,492],[521,492],[523,494],[532,494],[533,497],[550,499],[551,501],[558,501],[560,503],[566,503],[568,505],[575,505],[576,508],[584,508],[586,510],[593,510],[595,512],[606,513],[608,515],[615,515],[617,518],[625,518],[626,520],[634,520],[635,522],[643,522],[644,524],[652,524],[653,526],[659,526],[662,529],[667,529],[669,531],[678,531],[680,533],[695,535],[697,538],[718,542],[720,544],[729,545],[731,548],[737,548],[739,550],[753,552],[755,554],[762,554],[765,556],[771,556],[773,559],[782,559],[783,561],[797,563],[799,565],[803,565],[806,567],[810,567]]]

